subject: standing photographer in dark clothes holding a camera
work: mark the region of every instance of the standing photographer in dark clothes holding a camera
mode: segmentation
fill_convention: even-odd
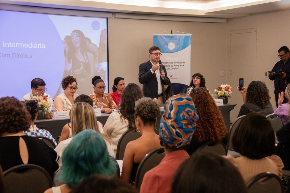
[[[281,92],[285,92],[285,88],[290,83],[290,52],[286,46],[282,46],[278,50],[278,58],[280,59],[271,70],[269,79],[274,81],[274,94],[276,106],[278,108],[278,99]],[[281,96],[282,97],[282,96]],[[283,103],[287,102],[287,98],[284,96]]]

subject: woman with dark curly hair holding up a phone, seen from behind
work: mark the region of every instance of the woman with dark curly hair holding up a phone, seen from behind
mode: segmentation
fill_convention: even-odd
[[[237,89],[239,90],[240,87],[237,87]],[[250,112],[258,112],[265,116],[274,113],[270,102],[269,89],[265,82],[252,81],[248,88],[242,87],[242,90],[239,91],[242,93],[244,104],[240,108],[238,117]]]

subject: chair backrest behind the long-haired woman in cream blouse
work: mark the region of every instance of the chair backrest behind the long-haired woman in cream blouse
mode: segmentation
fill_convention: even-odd
[[[128,129],[125,131],[121,138],[119,139],[118,145],[117,145],[117,152],[116,152],[116,160],[123,160],[124,158],[124,152],[127,144],[130,141],[133,141],[135,139],[138,139],[141,137],[141,134],[136,131],[136,127]]]

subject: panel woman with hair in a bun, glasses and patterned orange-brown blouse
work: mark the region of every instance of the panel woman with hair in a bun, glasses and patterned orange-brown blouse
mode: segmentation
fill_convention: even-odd
[[[112,109],[116,109],[117,105],[114,102],[112,96],[108,93],[105,93],[106,86],[101,77],[95,76],[94,78],[92,78],[92,84],[94,85],[95,91],[90,94],[89,97],[92,98],[93,102],[96,103],[97,107],[100,107],[101,104],[103,104],[103,107],[101,107],[101,112],[113,112]]]

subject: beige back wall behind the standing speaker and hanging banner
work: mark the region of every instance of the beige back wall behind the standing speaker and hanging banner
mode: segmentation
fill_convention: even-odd
[[[169,30],[192,33],[191,74],[201,73],[212,93],[219,84],[226,83],[226,76],[219,75],[220,71],[226,73],[227,24],[109,18],[110,91],[118,76],[125,78],[125,84],[136,83],[142,88],[138,69],[149,59],[148,50],[153,46],[151,34],[170,33]],[[191,77],[188,84],[190,80]]]

